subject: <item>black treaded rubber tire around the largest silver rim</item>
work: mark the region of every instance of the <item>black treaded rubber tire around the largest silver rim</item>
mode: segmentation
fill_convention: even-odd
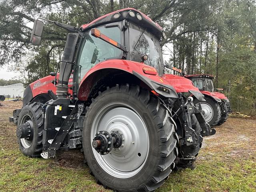
[[[92,148],[94,118],[102,108],[112,103],[119,103],[120,106],[126,106],[136,112],[148,132],[148,154],[143,164],[138,167],[138,172],[127,177],[125,174],[123,177],[110,174],[109,170],[97,161],[97,154]],[[82,134],[84,154],[90,172],[98,183],[118,191],[152,191],[164,184],[164,179],[175,166],[178,135],[170,114],[158,98],[139,86],[116,85],[102,93],[99,92],[87,108],[85,118]]]

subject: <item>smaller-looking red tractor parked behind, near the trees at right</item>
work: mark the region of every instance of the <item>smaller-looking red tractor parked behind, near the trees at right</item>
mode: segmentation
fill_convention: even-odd
[[[231,112],[228,98],[219,92],[214,92],[212,79],[214,76],[208,74],[187,75],[186,78],[192,80],[194,86],[198,87],[206,102],[194,100],[200,103],[206,122],[210,125],[221,125],[226,122],[228,113]]]

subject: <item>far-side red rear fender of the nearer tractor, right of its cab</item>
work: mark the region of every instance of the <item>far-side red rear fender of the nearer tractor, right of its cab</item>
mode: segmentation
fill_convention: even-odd
[[[198,100],[205,101],[204,95],[195,87],[191,80],[178,75],[164,74],[162,78],[174,87],[177,93],[190,92]]]

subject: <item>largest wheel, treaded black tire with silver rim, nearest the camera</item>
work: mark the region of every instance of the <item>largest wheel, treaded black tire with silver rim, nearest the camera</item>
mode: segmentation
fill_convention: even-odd
[[[118,132],[122,145],[106,155],[92,142],[97,133]],[[83,148],[96,181],[118,191],[151,191],[164,183],[178,155],[178,136],[158,98],[138,86],[116,86],[99,93],[87,108]]]

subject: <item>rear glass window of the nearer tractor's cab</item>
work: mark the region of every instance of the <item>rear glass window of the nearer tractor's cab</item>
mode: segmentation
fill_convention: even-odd
[[[162,76],[164,72],[164,62],[162,50],[158,38],[149,33],[146,29],[130,23],[129,25],[129,47],[130,60],[141,62],[142,56],[148,55],[145,64],[157,69]]]

